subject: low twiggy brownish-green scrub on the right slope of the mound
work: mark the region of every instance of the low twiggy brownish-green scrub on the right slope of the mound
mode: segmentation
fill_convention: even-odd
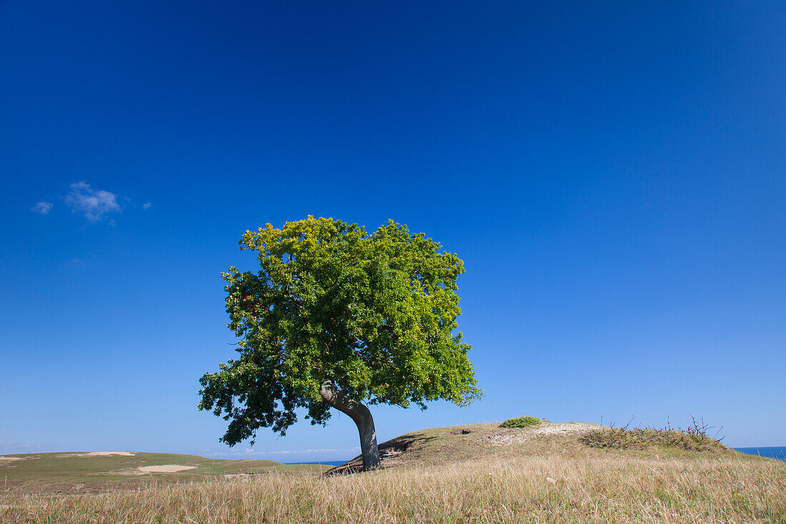
[[[665,428],[637,427],[632,430],[625,427],[599,427],[587,431],[579,437],[579,441],[592,448],[612,449],[646,449],[652,447],[679,448],[695,452],[720,452],[726,449],[722,439],[707,435],[707,426],[703,419],[693,419],[692,426],[687,430]]]

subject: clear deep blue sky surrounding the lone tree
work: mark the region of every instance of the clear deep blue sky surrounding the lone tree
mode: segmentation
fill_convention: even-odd
[[[782,2],[0,2],[0,453],[218,443],[247,229],[394,219],[465,260],[483,400],[784,445]],[[231,5],[228,5],[231,4]],[[337,450],[337,451],[336,451]]]

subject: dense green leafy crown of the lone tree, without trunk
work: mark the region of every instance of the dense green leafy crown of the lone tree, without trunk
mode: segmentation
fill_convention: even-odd
[[[240,357],[200,380],[199,408],[230,421],[222,441],[260,427],[283,435],[297,408],[324,425],[325,380],[353,400],[402,408],[479,396],[471,347],[454,334],[464,265],[438,242],[392,220],[366,234],[309,216],[246,231],[240,244],[260,266],[222,273]]]

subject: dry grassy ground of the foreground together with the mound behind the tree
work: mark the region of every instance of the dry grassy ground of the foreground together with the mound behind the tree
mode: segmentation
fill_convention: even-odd
[[[259,464],[228,478],[204,464],[194,478],[152,475],[103,493],[15,485],[0,521],[786,522],[786,463],[722,446],[591,448],[580,440],[589,426],[419,431],[380,445],[384,469],[361,474]]]

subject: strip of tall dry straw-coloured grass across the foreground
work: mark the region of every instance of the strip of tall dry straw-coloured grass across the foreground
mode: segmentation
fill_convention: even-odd
[[[786,464],[599,452],[3,500],[0,522],[786,522]]]

